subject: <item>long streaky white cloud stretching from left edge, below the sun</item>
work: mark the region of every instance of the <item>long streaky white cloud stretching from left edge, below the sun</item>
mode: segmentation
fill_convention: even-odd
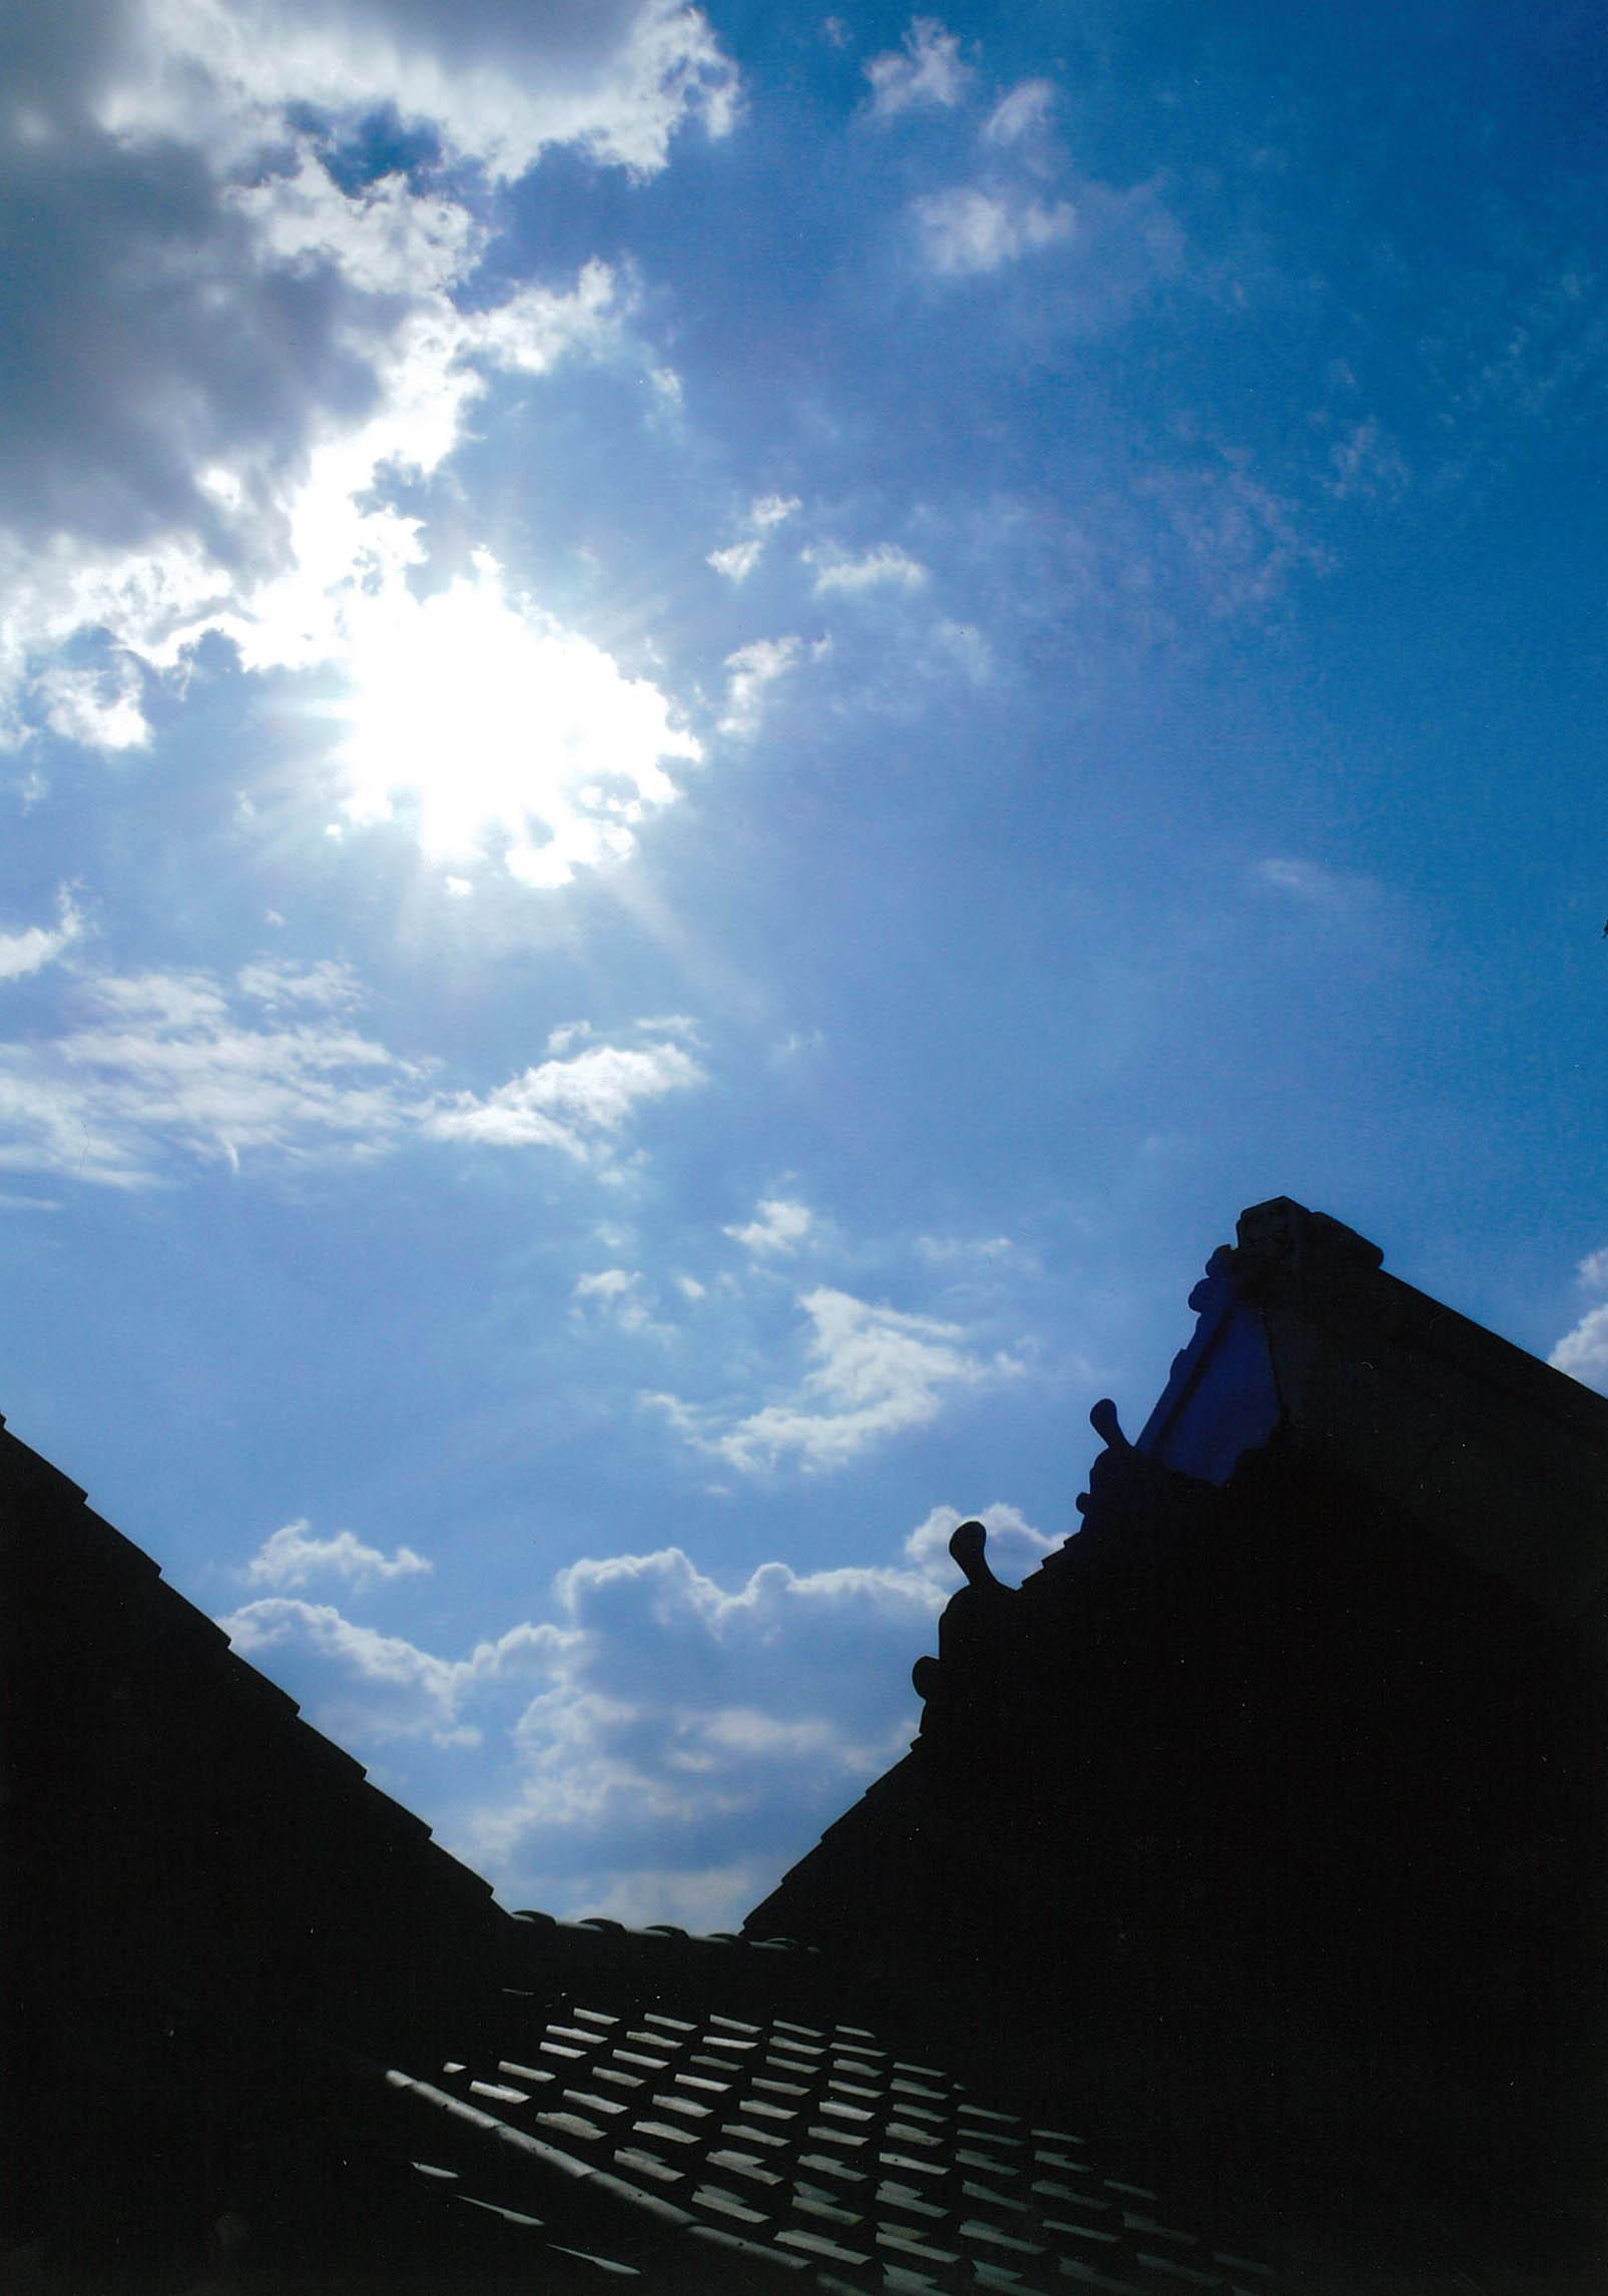
[[[331,964],[246,967],[237,987],[204,971],[78,978],[60,1033],[0,1040],[0,1169],[152,1187],[198,1162],[365,1159],[423,1139],[606,1166],[639,1107],[703,1081],[643,1026],[485,1095],[448,1093],[432,1063],[354,1024],[354,996]]]

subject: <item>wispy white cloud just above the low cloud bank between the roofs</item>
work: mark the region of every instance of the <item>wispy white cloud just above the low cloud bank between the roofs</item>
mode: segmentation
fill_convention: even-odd
[[[806,1472],[848,1465],[891,1435],[926,1426],[942,1396],[979,1387],[1022,1366],[1008,1355],[979,1355],[956,1322],[907,1316],[820,1286],[799,1306],[811,1320],[811,1368],[783,1403],[733,1419],[678,1396],[645,1396],[691,1444],[744,1474],[797,1465]]]

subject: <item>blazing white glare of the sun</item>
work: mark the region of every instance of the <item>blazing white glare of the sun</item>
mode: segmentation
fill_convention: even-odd
[[[485,553],[434,597],[356,597],[347,638],[342,810],[409,822],[434,863],[501,856],[521,884],[567,884],[675,799],[664,760],[701,755],[659,687],[512,604]]]

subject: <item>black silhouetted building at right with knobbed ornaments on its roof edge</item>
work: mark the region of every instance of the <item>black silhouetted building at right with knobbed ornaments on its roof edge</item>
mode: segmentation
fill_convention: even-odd
[[[1608,1403],[1289,1201],[1192,1306],[749,1929],[1316,2280],[1603,2285]]]

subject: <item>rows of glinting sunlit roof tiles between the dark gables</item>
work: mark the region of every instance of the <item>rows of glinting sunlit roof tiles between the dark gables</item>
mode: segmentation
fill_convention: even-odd
[[[524,2190],[544,2223],[542,2193],[583,2179],[625,2234],[639,2213],[662,2243],[703,2232],[749,2268],[855,2296],[1273,2296],[1268,2266],[1174,2225],[1082,2138],[995,2112],[861,2027],[505,2000],[508,2055],[391,2076],[503,2140],[498,2206]]]

